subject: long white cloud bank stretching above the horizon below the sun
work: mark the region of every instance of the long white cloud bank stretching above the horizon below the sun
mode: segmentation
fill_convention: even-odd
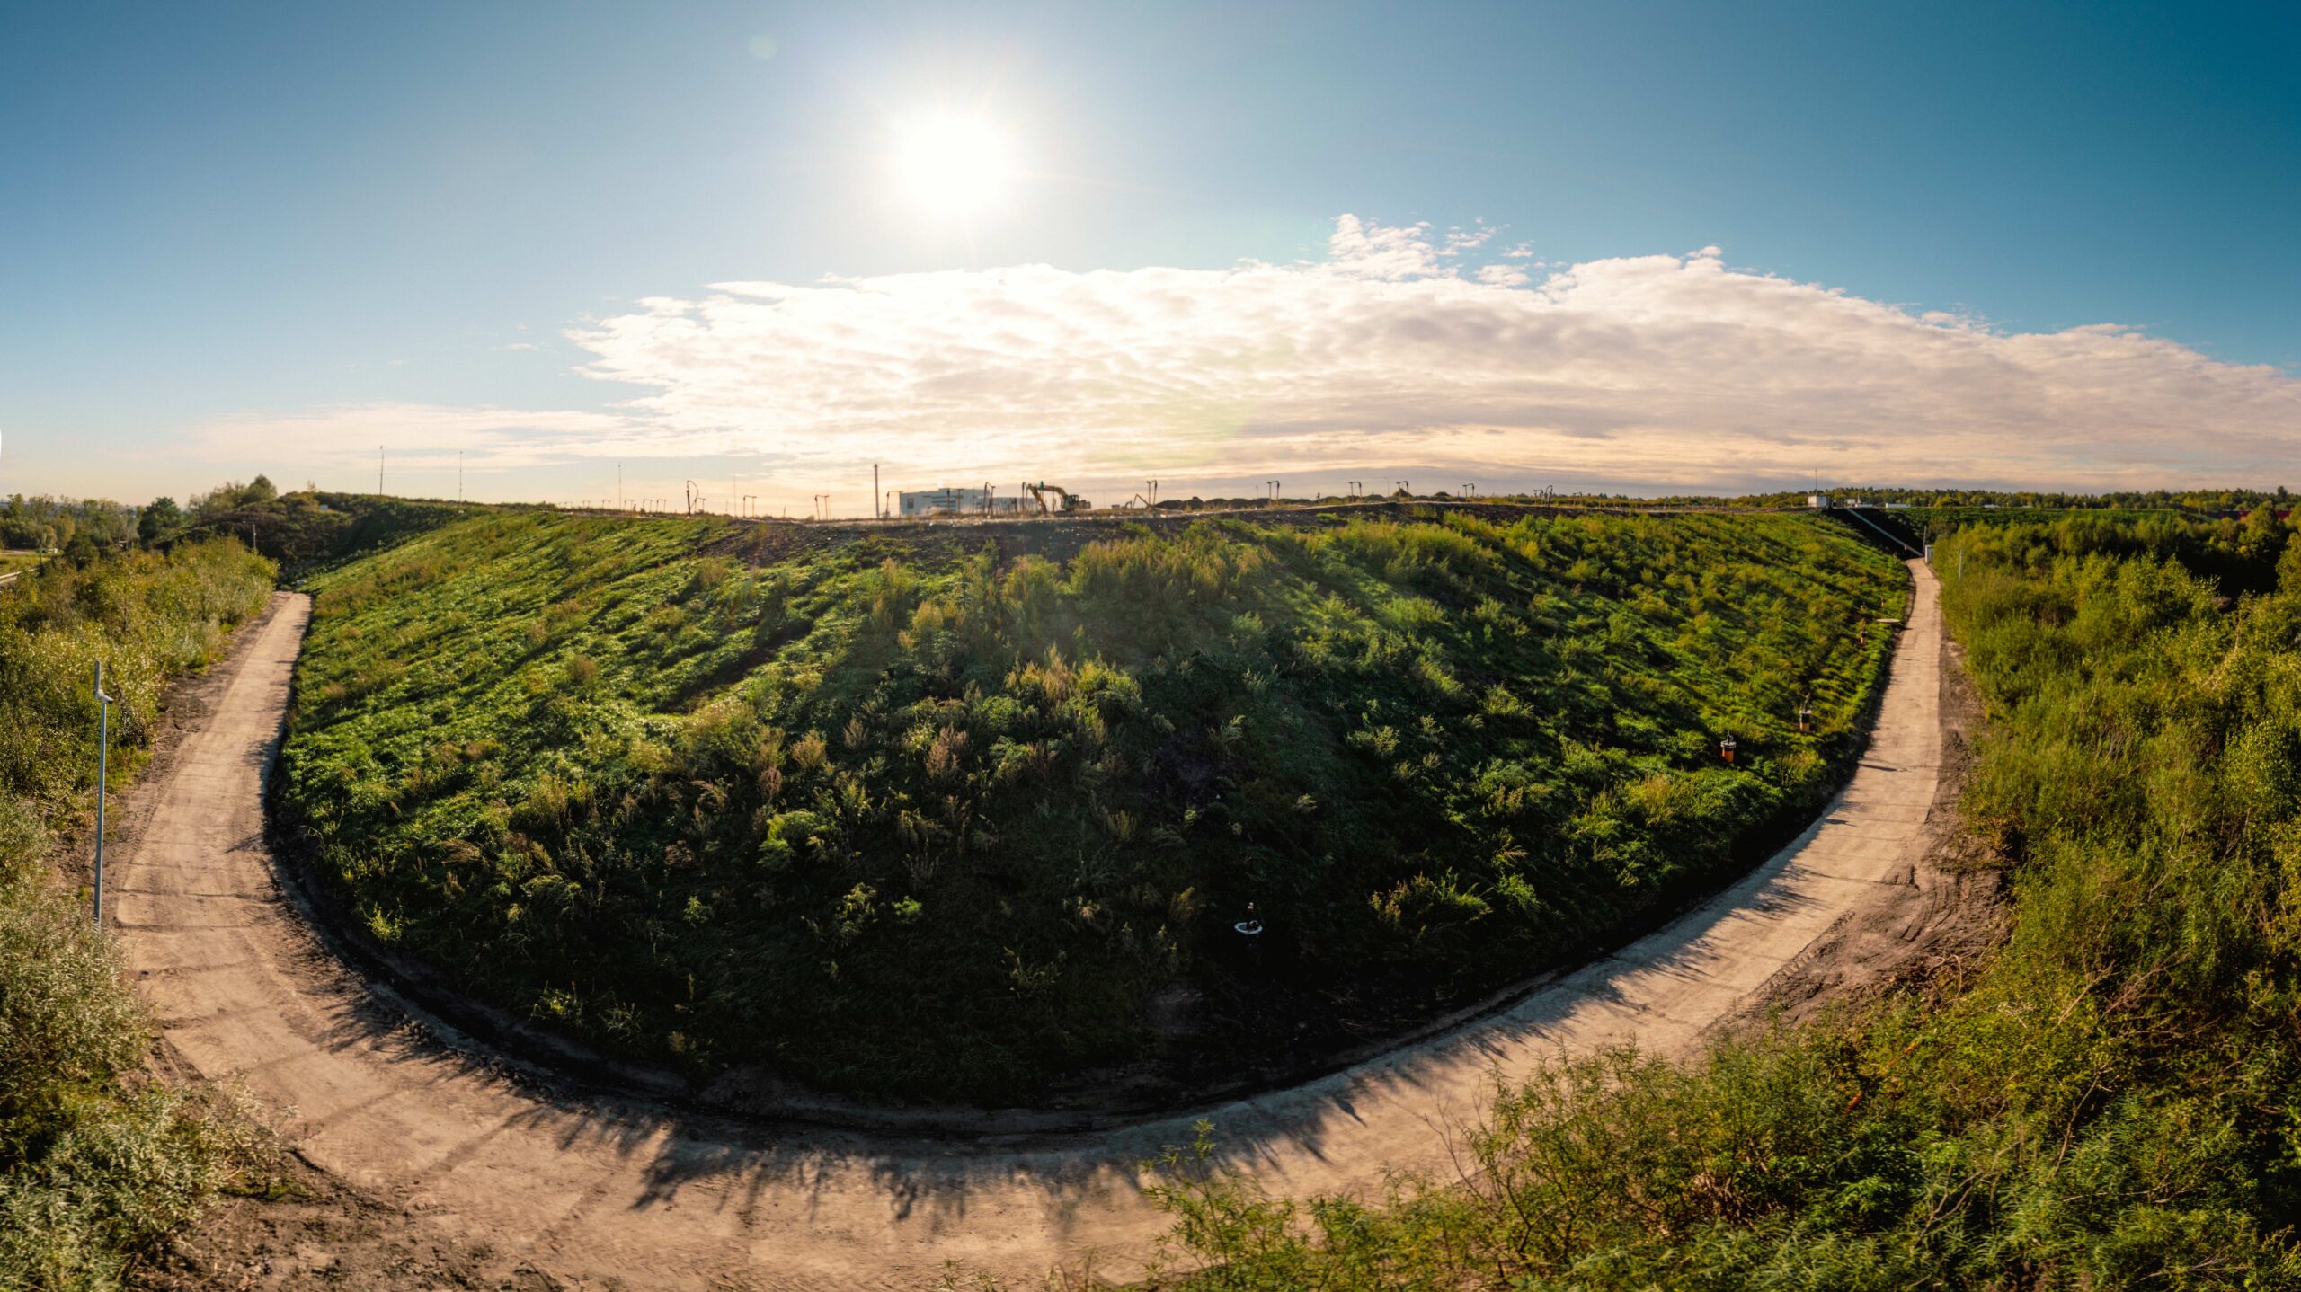
[[[1486,241],[1341,216],[1295,264],[720,283],[568,333],[587,377],[637,391],[605,414],[398,414],[476,416],[518,453],[732,453],[792,480],[872,460],[1486,490],[2301,480],[2301,379],[2276,368],[2117,324],[1997,331],[1717,248],[1544,271]],[[373,409],[331,416],[375,444]]]

